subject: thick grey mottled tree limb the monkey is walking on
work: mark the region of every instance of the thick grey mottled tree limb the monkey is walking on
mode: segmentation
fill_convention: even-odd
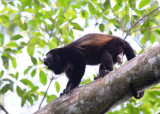
[[[35,114],[99,114],[128,101],[133,82],[138,90],[160,83],[160,45],[142,53],[104,78],[77,87]],[[158,101],[157,101],[158,102]]]

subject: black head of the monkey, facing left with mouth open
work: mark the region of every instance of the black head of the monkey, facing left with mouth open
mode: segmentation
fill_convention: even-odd
[[[44,58],[44,64],[55,74],[61,74],[66,68],[64,57],[61,55],[60,49],[50,50],[46,54],[46,58]]]

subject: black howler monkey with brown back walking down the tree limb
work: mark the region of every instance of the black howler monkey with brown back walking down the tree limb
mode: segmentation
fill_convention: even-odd
[[[123,63],[123,55],[130,60],[135,57],[132,47],[123,39],[105,34],[87,34],[62,48],[50,50],[44,64],[55,74],[65,72],[69,81],[63,94],[80,84],[86,65],[97,65],[99,77],[113,70],[113,65]],[[137,93],[133,83],[130,84],[135,98],[141,98],[144,92]]]

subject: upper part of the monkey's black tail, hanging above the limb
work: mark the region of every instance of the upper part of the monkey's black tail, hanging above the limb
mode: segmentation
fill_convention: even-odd
[[[135,53],[134,53],[133,48],[126,41],[125,41],[124,53],[126,54],[126,57],[127,57],[128,61],[136,56]]]

